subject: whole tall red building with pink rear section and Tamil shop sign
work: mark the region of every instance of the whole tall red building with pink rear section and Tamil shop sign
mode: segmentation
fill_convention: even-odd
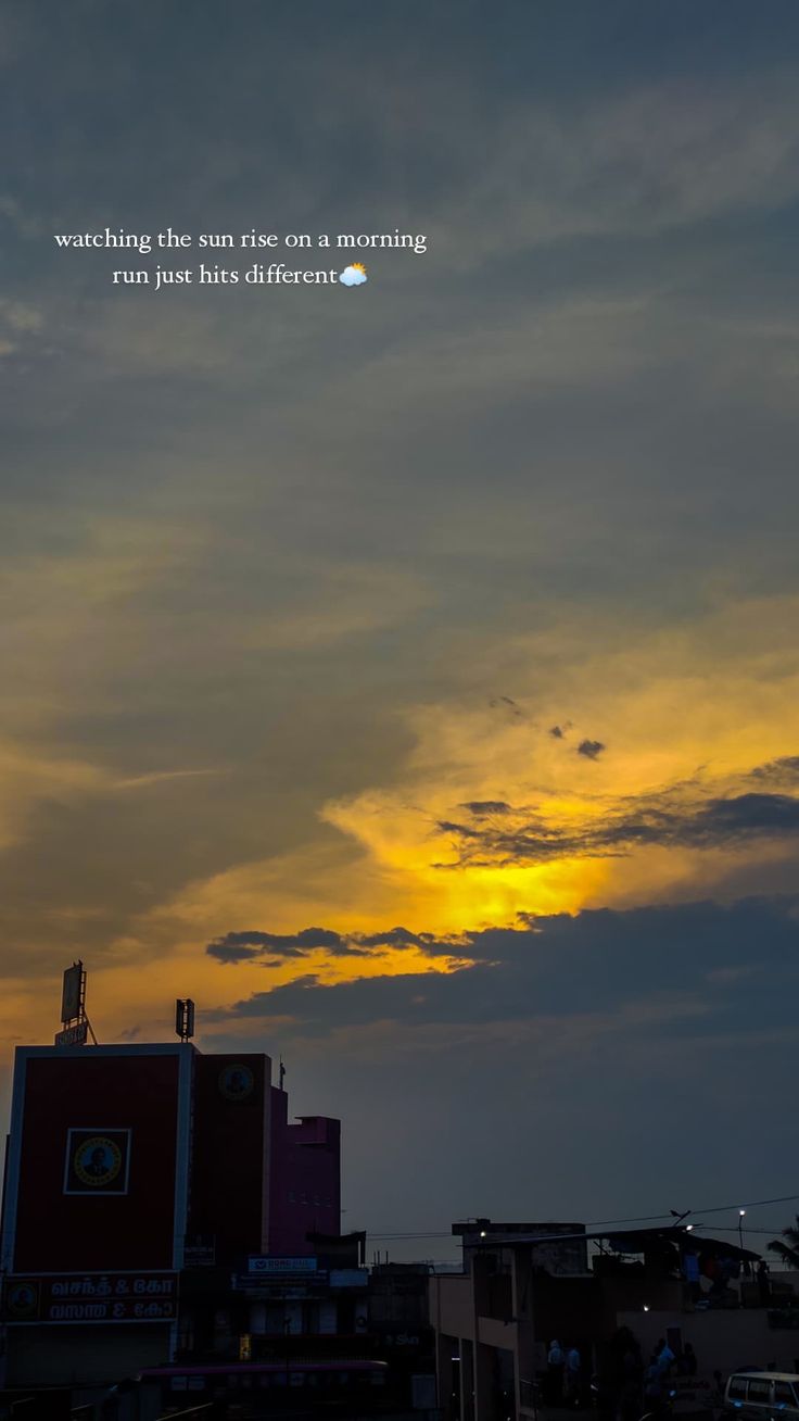
[[[308,1235],[338,1235],[339,1215],[339,1123],[290,1123],[268,1056],[18,1047],[6,1387],[102,1387],[169,1361],[193,1330],[197,1275],[210,1297],[250,1258],[311,1259]]]

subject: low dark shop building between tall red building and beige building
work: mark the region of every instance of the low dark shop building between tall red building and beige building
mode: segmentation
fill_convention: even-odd
[[[250,1417],[440,1421],[427,1266],[369,1272],[365,1233],[309,1242],[312,1256],[253,1256],[227,1279],[186,1272],[192,1336],[172,1366],[143,1373],[135,1417],[118,1421],[156,1421],[189,1400]]]

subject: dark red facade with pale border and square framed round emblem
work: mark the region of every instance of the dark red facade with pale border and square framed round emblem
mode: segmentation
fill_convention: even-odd
[[[7,1275],[182,1266],[193,1057],[177,1044],[17,1049]]]

